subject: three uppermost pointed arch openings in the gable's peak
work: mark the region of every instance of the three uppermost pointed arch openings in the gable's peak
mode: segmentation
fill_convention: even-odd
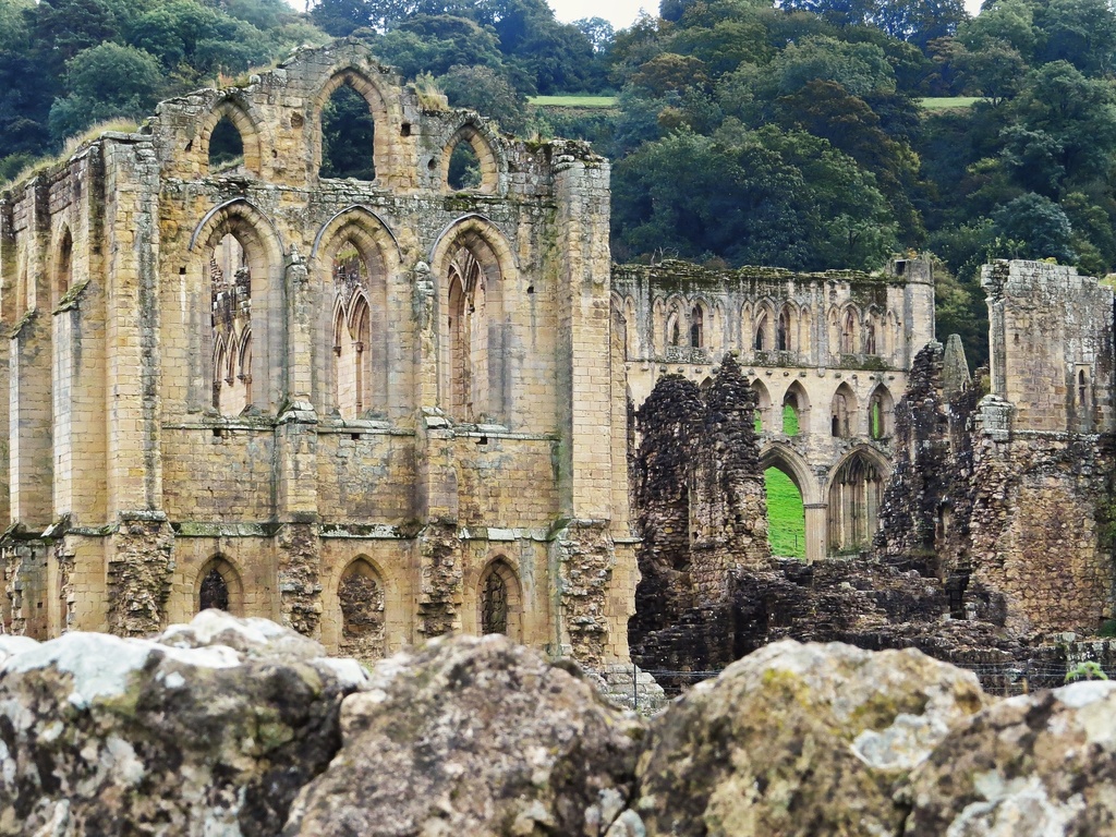
[[[309,118],[307,118],[307,116]],[[311,171],[320,179],[354,179],[374,182],[393,158],[393,119],[387,99],[378,86],[360,69],[346,67],[331,75],[314,96],[304,116],[295,113],[290,126],[306,131],[309,123]],[[203,174],[231,171],[262,176],[262,119],[253,115],[250,98],[227,92],[204,117],[196,142]],[[315,129],[316,128],[316,129]],[[401,137],[412,135],[410,123],[397,128]],[[499,162],[488,131],[466,116],[451,134],[437,157],[427,163],[426,176],[434,176],[449,191],[494,192]],[[194,152],[190,141],[186,152]]]

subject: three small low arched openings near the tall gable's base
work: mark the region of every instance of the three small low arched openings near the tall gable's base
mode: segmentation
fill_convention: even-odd
[[[338,652],[375,660],[387,651],[387,587],[368,556],[352,559],[337,583]],[[481,634],[506,634],[522,642],[523,594],[519,576],[504,556],[489,560],[480,573],[472,602]],[[198,573],[194,608],[217,608],[244,616],[244,586],[229,558],[213,556]]]

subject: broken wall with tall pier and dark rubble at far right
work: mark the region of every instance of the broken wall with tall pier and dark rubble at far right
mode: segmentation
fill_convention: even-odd
[[[959,615],[1091,633],[1116,613],[1113,292],[1042,262],[982,281],[990,392],[950,375],[940,345],[916,359],[879,543],[952,578]]]

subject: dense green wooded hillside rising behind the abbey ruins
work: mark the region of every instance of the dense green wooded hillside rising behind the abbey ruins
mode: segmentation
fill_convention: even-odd
[[[1116,16],[1105,0],[662,0],[613,32],[543,0],[0,0],[0,181],[90,125],[366,38],[452,104],[613,157],[617,260],[942,260],[981,359],[988,258],[1116,266]],[[529,97],[608,94],[612,107]],[[931,109],[925,97],[977,97]],[[343,118],[330,124],[344,124]]]

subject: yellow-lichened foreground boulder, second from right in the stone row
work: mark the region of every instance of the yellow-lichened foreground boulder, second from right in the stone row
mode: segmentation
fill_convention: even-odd
[[[984,701],[917,651],[775,643],[656,719],[633,811],[647,835],[895,835],[897,785]]]

